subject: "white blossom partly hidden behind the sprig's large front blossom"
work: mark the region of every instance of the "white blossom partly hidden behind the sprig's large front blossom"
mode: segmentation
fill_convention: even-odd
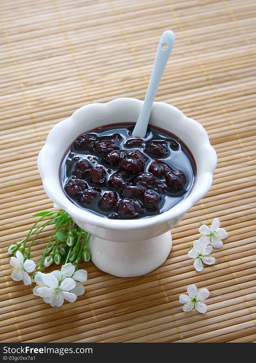
[[[51,273],[54,274],[54,276],[58,280],[60,280],[61,276],[63,279],[71,277],[73,280],[75,280],[76,286],[74,287],[74,289],[70,290],[70,292],[75,294],[76,296],[84,294],[85,288],[82,284],[80,284],[80,282],[87,281],[87,271],[77,270],[75,272],[75,266],[73,266],[71,262],[68,262],[68,264],[62,266],[60,271],[56,270]]]

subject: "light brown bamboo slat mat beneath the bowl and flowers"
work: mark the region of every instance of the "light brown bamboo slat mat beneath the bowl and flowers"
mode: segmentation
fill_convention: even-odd
[[[253,342],[256,340],[255,0],[0,1],[1,280],[4,342]],[[7,246],[31,215],[53,208],[37,170],[50,129],[90,102],[144,99],[159,38],[176,42],[156,101],[199,121],[218,154],[210,192],[172,230],[165,263],[117,278],[91,262],[86,294],[52,308],[11,280]],[[201,273],[188,244],[219,217],[229,237]],[[45,248],[51,229],[32,253]],[[55,268],[55,267],[54,267]],[[188,284],[207,313],[184,313]]]

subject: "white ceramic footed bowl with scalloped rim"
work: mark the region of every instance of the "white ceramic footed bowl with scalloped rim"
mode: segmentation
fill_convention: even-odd
[[[89,243],[92,261],[101,270],[116,276],[139,276],[165,261],[171,250],[170,229],[209,191],[217,164],[216,152],[200,123],[186,117],[176,107],[155,102],[150,125],[179,137],[196,162],[197,175],[190,194],[169,211],[138,220],[110,220],[73,204],[59,180],[59,167],[67,148],[77,136],[96,127],[135,123],[142,104],[138,99],[118,98],[83,106],[53,127],[38,155],[38,169],[47,195],[65,209],[77,225],[93,235]]]

